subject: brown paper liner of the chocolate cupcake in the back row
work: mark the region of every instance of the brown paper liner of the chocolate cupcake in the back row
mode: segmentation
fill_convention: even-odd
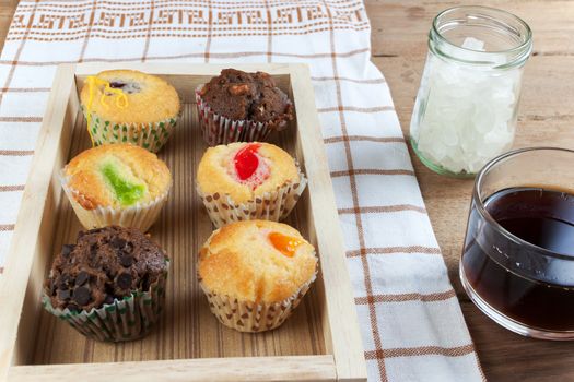
[[[281,131],[286,128],[288,122],[282,121],[279,126],[269,127],[268,122],[251,120],[232,120],[220,116],[206,104],[200,92],[204,84],[196,88],[196,105],[199,126],[203,140],[210,146],[227,144],[232,142],[265,142],[272,131]],[[291,104],[289,97],[283,94],[284,102]]]

